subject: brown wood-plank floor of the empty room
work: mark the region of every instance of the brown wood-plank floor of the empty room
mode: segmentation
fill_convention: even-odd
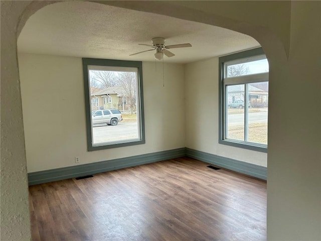
[[[33,240],[266,240],[266,182],[178,158],[29,187]]]

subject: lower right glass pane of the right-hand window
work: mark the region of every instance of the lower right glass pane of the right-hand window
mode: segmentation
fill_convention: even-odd
[[[267,145],[268,82],[248,84],[248,141]]]

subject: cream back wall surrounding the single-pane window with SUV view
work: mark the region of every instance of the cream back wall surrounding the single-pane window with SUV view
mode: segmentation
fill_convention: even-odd
[[[81,58],[19,55],[28,172],[185,147],[184,66],[143,63],[146,144],[88,152]]]

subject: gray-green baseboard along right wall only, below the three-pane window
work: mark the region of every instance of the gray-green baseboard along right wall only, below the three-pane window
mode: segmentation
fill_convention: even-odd
[[[190,148],[186,148],[186,156],[216,165],[218,167],[250,175],[252,177],[257,177],[263,180],[267,179],[267,168],[259,165],[246,163],[231,158],[221,157]]]

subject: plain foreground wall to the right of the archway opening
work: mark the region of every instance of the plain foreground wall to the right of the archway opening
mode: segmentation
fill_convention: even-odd
[[[270,61],[267,237],[321,240],[320,1],[292,1],[290,37]]]

